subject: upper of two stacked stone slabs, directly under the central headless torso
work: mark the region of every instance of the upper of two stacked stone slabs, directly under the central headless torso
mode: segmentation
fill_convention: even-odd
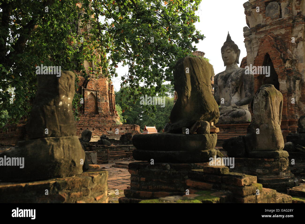
[[[214,149],[217,134],[137,134],[132,138],[139,150],[150,151],[203,151]]]

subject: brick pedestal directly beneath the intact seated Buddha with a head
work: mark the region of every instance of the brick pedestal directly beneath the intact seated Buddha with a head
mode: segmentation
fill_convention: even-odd
[[[217,123],[215,126],[219,128],[217,133],[216,146],[222,146],[225,140],[247,134],[247,127],[250,122],[235,122],[235,123]]]

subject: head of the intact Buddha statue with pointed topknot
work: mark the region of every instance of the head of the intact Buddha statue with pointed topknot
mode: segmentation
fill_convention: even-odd
[[[239,64],[240,50],[238,46],[231,40],[230,34],[228,32],[227,40],[221,47],[221,56],[224,61],[224,66],[230,66]]]

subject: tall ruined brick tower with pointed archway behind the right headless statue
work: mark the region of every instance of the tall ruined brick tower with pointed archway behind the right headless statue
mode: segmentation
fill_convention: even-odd
[[[254,74],[254,92],[263,84],[273,84],[282,93],[281,128],[285,140],[289,132],[296,132],[297,121],[305,112],[305,3],[250,0],[244,8],[247,57],[241,67],[270,66],[269,77]]]

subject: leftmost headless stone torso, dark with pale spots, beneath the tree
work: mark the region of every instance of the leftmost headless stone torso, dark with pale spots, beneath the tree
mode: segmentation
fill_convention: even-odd
[[[26,125],[29,139],[76,135],[72,113],[74,80],[75,75],[70,71],[62,71],[60,77],[37,75],[37,92]]]

